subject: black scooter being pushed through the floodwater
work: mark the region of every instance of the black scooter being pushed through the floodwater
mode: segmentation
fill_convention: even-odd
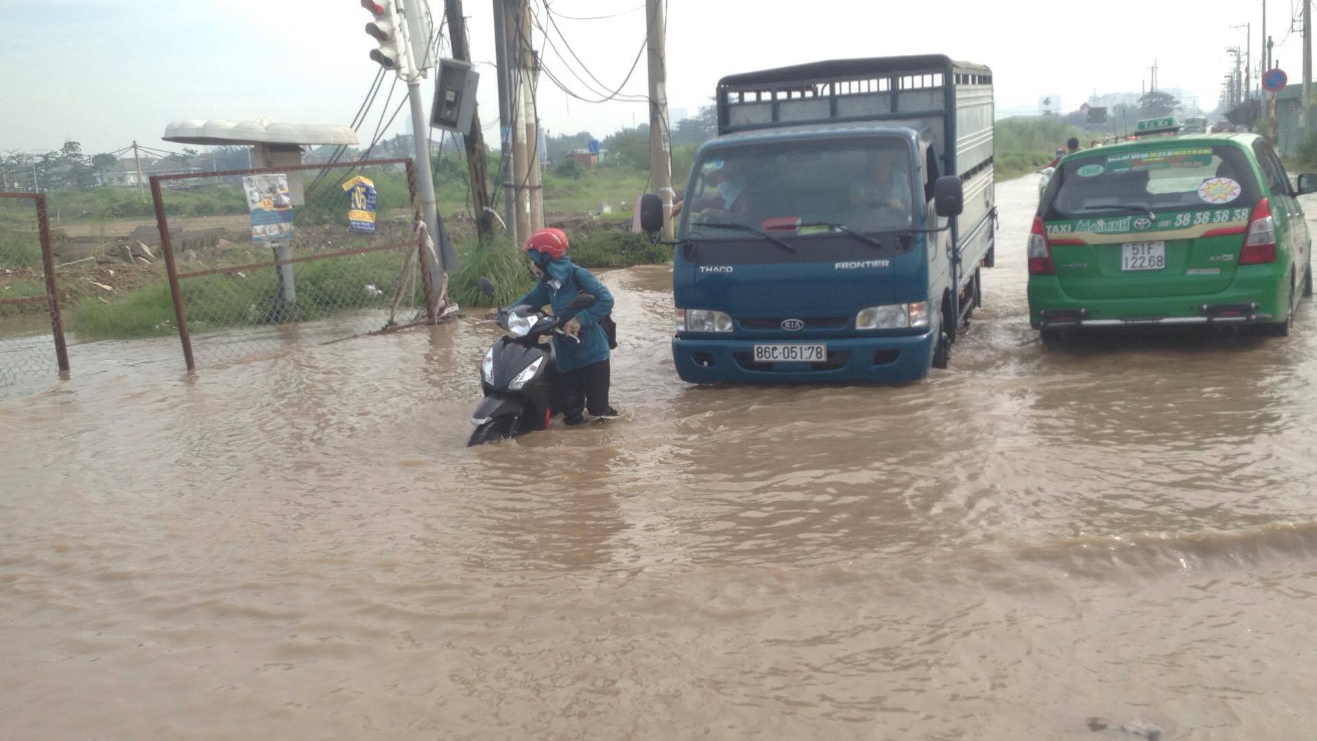
[[[481,276],[481,293],[494,295],[494,283]],[[594,306],[594,297],[581,293],[568,309],[573,312]],[[557,316],[532,306],[500,309],[498,326],[507,332],[485,353],[481,364],[481,388],[485,401],[475,407],[471,425],[475,430],[466,446],[515,438],[532,430],[547,430],[549,419],[562,410],[553,344],[541,344],[545,336],[570,338]]]

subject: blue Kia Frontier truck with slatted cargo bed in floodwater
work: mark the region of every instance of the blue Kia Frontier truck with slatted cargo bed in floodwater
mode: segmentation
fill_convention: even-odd
[[[673,260],[685,381],[911,381],[946,368],[992,266],[992,70],[943,55],[718,83]],[[645,231],[665,220],[656,195]]]

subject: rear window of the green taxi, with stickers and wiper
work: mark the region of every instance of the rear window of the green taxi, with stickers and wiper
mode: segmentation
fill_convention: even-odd
[[[1262,198],[1237,146],[1181,145],[1064,162],[1044,195],[1044,219],[1249,206]]]

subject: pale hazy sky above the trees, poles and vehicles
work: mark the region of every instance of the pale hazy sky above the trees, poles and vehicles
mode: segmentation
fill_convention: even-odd
[[[543,0],[533,0],[543,17]],[[431,0],[436,21],[443,0]],[[626,76],[644,37],[644,0],[549,0],[562,33],[610,87]],[[1303,54],[1289,32],[1291,3],[1268,4],[1275,58],[1299,83]],[[635,12],[627,12],[633,11]],[[491,0],[466,0],[477,62],[493,62]],[[299,124],[348,124],[375,75],[370,13],[358,0],[0,0],[0,150],[57,149],[66,137],[87,153],[150,146],[183,117],[241,120],[265,115]],[[997,105],[1033,112],[1040,95],[1076,108],[1094,88],[1138,91],[1154,58],[1162,87],[1180,87],[1213,108],[1230,58],[1259,3],[1227,0],[669,0],[668,91],[673,107],[707,104],[718,78],[798,62],[944,53],[993,67]],[[1284,44],[1281,44],[1284,40]],[[566,55],[561,40],[554,45]],[[536,32],[536,47],[544,34]],[[591,96],[569,65],[547,50],[545,66]],[[572,65],[574,67],[574,63]],[[1256,63],[1255,63],[1256,66]],[[481,115],[498,116],[493,67],[481,66]],[[579,73],[579,70],[577,70]],[[585,73],[579,73],[586,76]],[[390,79],[392,74],[390,74]],[[428,87],[428,86],[427,86]],[[402,84],[392,108],[400,100]],[[641,59],[627,92],[644,94]],[[369,119],[373,132],[387,84]],[[552,132],[607,134],[645,108],[568,100],[541,80],[540,117]],[[427,92],[428,109],[428,92]],[[390,109],[390,113],[392,111]],[[403,131],[399,116],[391,131]],[[369,132],[366,133],[369,137]]]

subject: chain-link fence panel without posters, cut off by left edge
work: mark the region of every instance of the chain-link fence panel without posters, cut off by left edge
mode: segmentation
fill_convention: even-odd
[[[0,193],[0,388],[68,370],[46,199]]]

